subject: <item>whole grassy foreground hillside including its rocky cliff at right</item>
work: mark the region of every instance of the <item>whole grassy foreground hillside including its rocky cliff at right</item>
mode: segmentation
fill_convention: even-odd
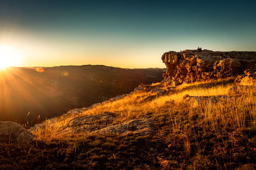
[[[159,83],[20,128],[26,136],[6,130],[0,169],[255,169],[255,65],[234,67],[232,56],[208,50],[189,51],[189,64],[187,52],[163,57]],[[185,66],[195,70],[179,76]]]

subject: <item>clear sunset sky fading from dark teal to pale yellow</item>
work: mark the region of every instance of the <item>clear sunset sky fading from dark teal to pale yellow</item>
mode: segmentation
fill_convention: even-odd
[[[165,67],[161,55],[256,50],[255,1],[1,0],[0,45],[20,66]]]

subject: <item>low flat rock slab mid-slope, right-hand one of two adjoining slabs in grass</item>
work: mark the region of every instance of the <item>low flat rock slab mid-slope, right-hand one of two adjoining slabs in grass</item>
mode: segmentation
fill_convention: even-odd
[[[149,118],[141,118],[134,120],[127,120],[123,124],[111,125],[109,127],[100,129],[93,133],[103,133],[103,134],[138,134],[141,136],[147,134],[153,134],[154,129],[151,125],[152,120]]]

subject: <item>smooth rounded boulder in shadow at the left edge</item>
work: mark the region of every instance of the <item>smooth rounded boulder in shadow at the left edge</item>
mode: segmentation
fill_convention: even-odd
[[[29,143],[35,135],[15,122],[0,121],[0,143]]]

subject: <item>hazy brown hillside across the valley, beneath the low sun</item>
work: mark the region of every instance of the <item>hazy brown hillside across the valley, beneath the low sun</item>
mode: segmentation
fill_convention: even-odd
[[[129,93],[140,83],[161,81],[164,71],[92,65],[11,67],[0,73],[0,120],[31,126]]]

